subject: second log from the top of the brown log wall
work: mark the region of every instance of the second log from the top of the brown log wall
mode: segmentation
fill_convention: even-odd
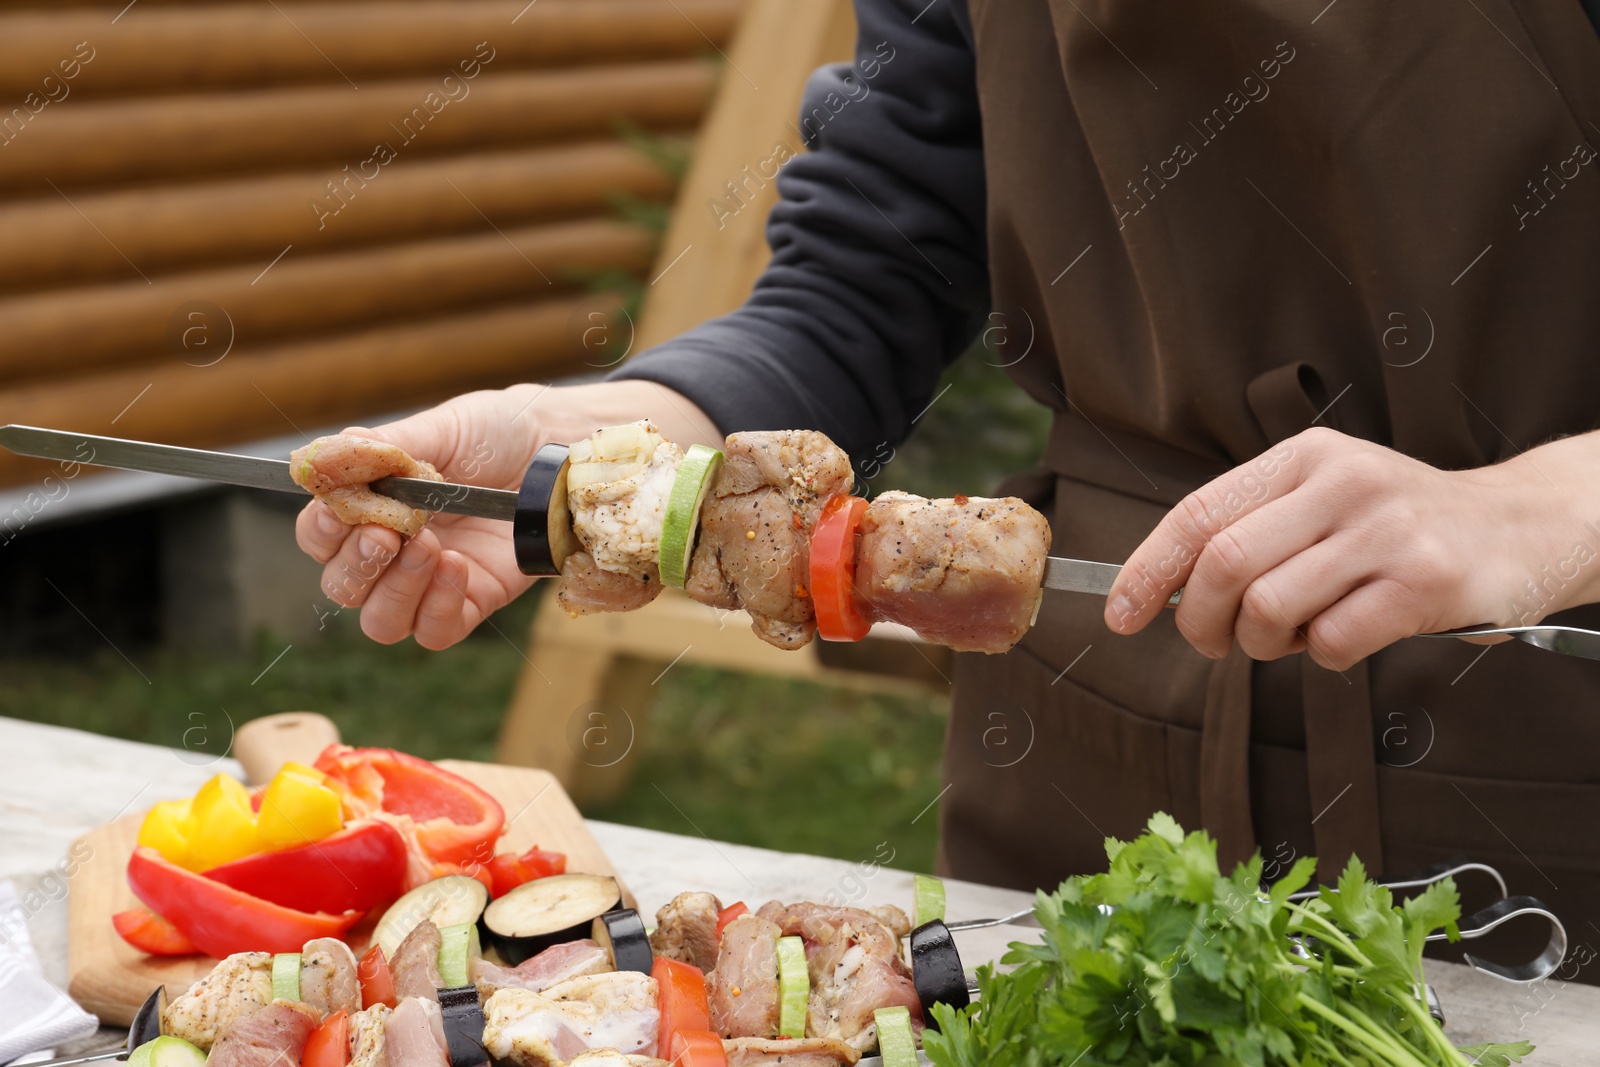
[[[483,152],[558,138],[606,138],[622,120],[645,130],[686,130],[699,123],[714,85],[712,64],[677,59],[533,72],[488,69],[472,82],[453,82],[448,96],[435,75],[374,82],[360,93],[341,82],[72,101],[59,114],[46,109],[5,146],[0,192],[53,195],[48,179],[74,194],[94,184],[189,182],[304,163],[339,171],[370,157],[376,144],[403,146],[414,157]]]

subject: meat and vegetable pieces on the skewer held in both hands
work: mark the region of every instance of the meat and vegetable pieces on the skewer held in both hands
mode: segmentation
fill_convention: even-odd
[[[294,478],[347,523],[413,536],[426,510],[368,483],[414,461],[360,437],[318,438]],[[427,477],[427,472],[421,472]],[[733,434],[722,450],[669,442],[648,421],[546,445],[528,469],[517,563],[560,574],[573,616],[632,611],[664,585],[744,609],[768,645],[859,640],[901,622],[958,651],[1003,653],[1032,625],[1050,523],[1016,498],[851,496],[850,458],[814,430]]]

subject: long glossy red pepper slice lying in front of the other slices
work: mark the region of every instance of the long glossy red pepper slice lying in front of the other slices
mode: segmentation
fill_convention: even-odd
[[[235,952],[299,952],[314,937],[338,937],[360,912],[298,912],[168,862],[154,848],[128,861],[133,894],[216,958]]]

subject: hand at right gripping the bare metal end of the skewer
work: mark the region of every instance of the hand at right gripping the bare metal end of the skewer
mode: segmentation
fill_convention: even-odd
[[[1310,429],[1202,486],[1128,558],[1106,624],[1134,633],[1179,587],[1178,629],[1222,657],[1309,649],[1342,670],[1413,633],[1526,625],[1600,598],[1600,437],[1438,470]]]

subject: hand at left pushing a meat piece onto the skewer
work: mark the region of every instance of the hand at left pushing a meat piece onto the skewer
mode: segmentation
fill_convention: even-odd
[[[542,445],[643,418],[683,445],[720,440],[691,402],[643,381],[474,392],[398,422],[347,432],[398,445],[450,482],[517,490]],[[517,569],[510,523],[491,518],[440,512],[405,542],[384,526],[346,526],[312,501],[294,537],[323,565],[328,598],[360,608],[362,632],[384,645],[414,635],[422,648],[448,648],[534,581]]]

